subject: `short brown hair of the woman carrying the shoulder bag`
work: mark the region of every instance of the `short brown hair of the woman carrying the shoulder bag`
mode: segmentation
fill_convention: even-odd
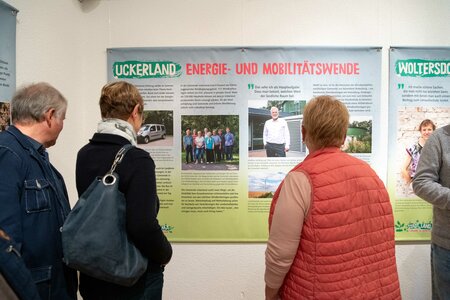
[[[144,110],[144,100],[139,90],[126,81],[115,81],[105,85],[99,104],[104,119],[127,120],[136,104],[139,104],[139,113]]]

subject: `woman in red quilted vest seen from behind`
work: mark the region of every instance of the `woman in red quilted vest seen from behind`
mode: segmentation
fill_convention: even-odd
[[[331,96],[305,107],[309,155],[270,209],[266,299],[401,299],[389,196],[367,163],[340,150],[348,123]]]

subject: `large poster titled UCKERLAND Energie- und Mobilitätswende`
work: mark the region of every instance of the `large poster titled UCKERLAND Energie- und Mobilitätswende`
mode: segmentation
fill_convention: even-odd
[[[107,65],[109,81],[144,98],[139,146],[155,160],[172,241],[266,241],[272,195],[307,154],[300,128],[314,96],[347,105],[344,151],[383,161],[380,48],[114,48]]]

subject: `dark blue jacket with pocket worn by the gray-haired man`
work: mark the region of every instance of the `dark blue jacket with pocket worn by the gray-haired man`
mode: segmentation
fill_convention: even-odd
[[[35,144],[37,142],[34,142]],[[61,174],[15,126],[0,133],[0,227],[17,243],[42,299],[76,299],[76,272],[62,261],[70,211]]]

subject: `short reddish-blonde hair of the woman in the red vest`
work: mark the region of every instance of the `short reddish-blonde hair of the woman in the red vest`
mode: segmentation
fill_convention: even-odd
[[[342,146],[347,134],[349,114],[345,105],[332,96],[318,96],[305,106],[303,127],[307,138],[319,149]]]

